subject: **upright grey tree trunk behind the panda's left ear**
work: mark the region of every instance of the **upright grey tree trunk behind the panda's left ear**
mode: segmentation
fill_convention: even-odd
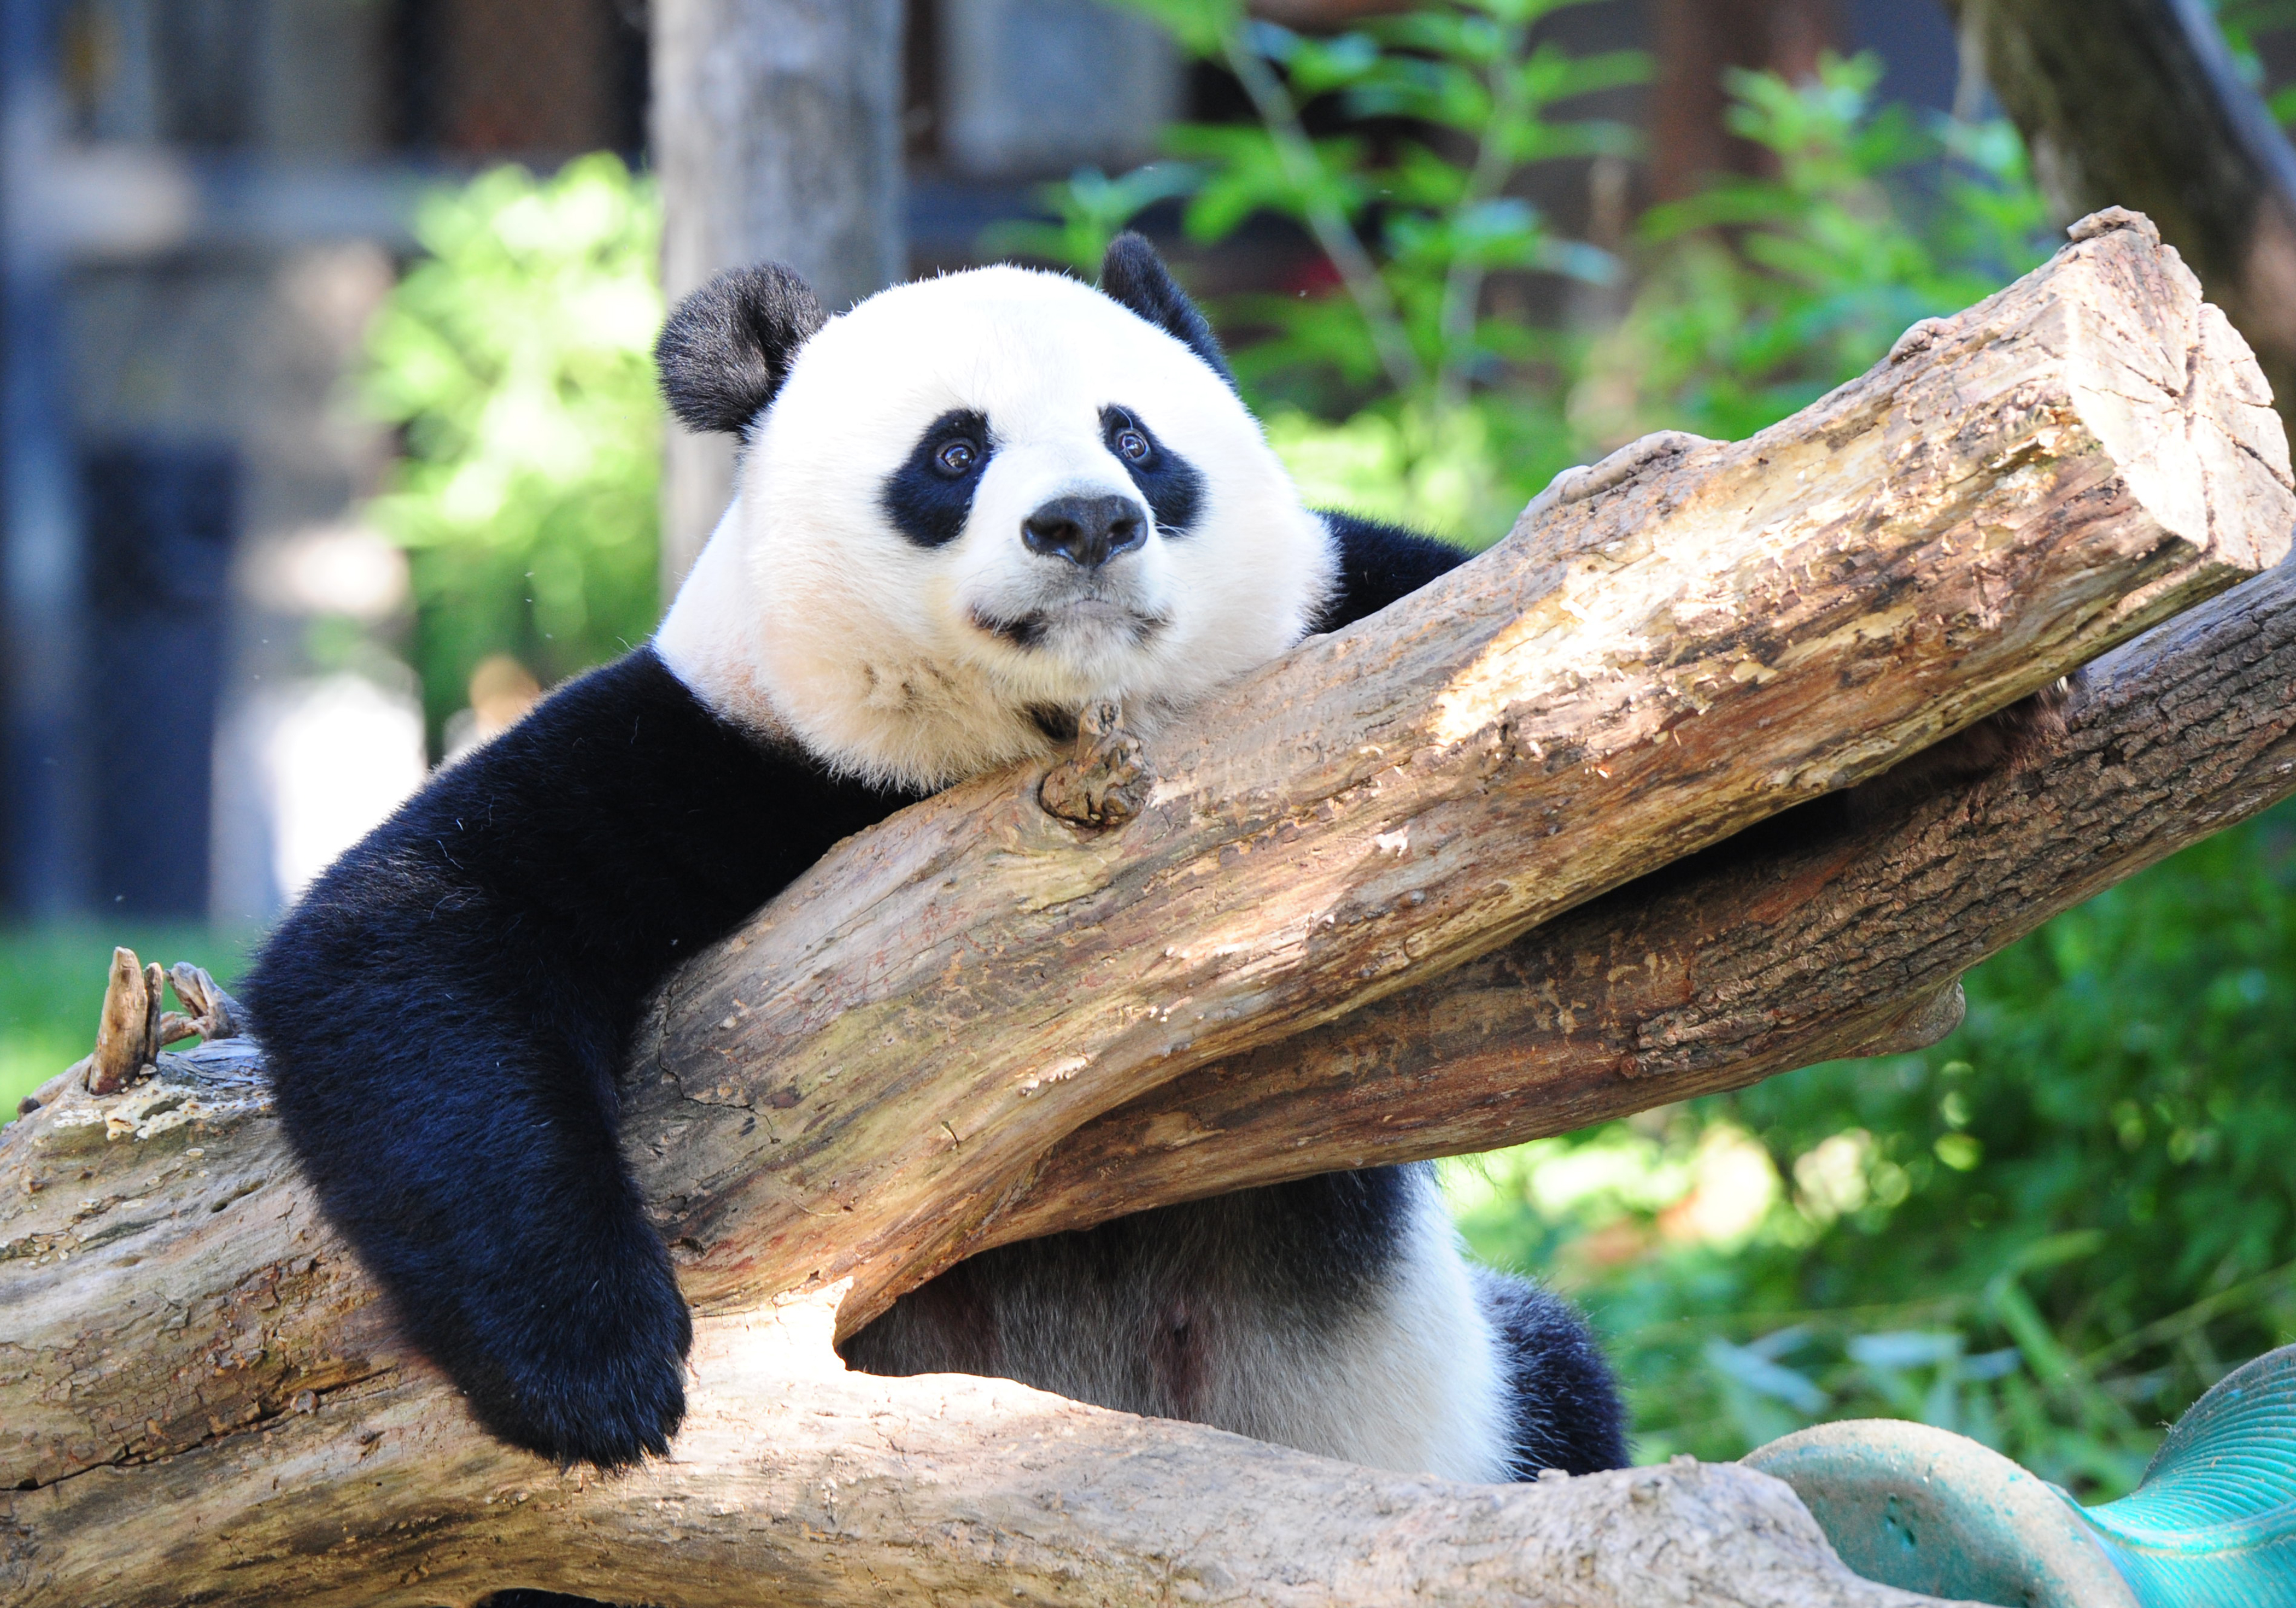
[[[840,312],[902,276],[900,0],[652,0],[661,285],[783,262]],[[726,512],[732,443],[664,441],[661,595]]]

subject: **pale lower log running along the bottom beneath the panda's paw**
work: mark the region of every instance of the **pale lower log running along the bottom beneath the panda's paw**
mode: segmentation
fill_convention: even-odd
[[[705,1319],[673,1459],[611,1482],[505,1454],[409,1367],[200,1456],[0,1495],[0,1601],[1938,1608],[1853,1576],[1736,1463],[1384,1475],[1006,1381],[845,1374],[831,1325],[827,1291]]]

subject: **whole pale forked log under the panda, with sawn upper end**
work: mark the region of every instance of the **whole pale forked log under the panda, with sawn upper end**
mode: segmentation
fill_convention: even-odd
[[[25,1486],[0,1495],[0,1599],[1913,1601],[1844,1576],[1747,1472],[1336,1470],[994,1381],[847,1376],[829,1330],[850,1280],[882,1302],[930,1273],[1111,1105],[1869,774],[2278,558],[2287,482],[2236,338],[2140,230],[2108,232],[1800,420],[1309,643],[1162,737],[1120,832],[990,779],[845,845],[680,979],[631,1089],[700,1321],[677,1456],[627,1479],[468,1424],[259,1100],[67,1093],[0,1139],[0,1484]]]

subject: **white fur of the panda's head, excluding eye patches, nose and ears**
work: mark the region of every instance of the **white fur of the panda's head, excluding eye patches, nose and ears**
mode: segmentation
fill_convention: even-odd
[[[1086,572],[1031,554],[1022,519],[1061,494],[1141,501],[1102,439],[1111,404],[1194,464],[1203,496],[1185,535],[1153,531]],[[987,416],[994,453],[964,533],[928,551],[879,498],[953,409]],[[879,292],[806,342],[654,645],[719,714],[850,774],[939,788],[1049,751],[1031,705],[1116,698],[1153,730],[1295,643],[1334,567],[1208,363],[1077,280],[974,269]],[[1054,625],[1019,648],[976,613]]]

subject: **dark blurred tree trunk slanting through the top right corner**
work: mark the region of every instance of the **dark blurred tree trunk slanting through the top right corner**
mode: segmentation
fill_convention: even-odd
[[[2204,0],[1947,0],[2060,218],[2161,225],[2296,418],[2296,149]]]

